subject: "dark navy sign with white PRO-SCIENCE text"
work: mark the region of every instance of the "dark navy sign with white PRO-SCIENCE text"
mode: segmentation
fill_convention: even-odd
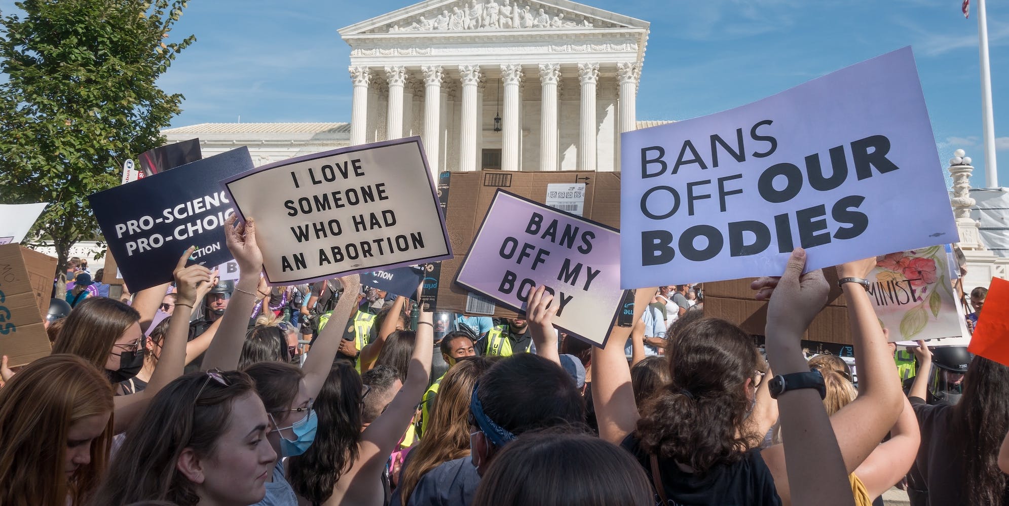
[[[201,265],[232,258],[224,222],[234,211],[218,181],[250,168],[243,146],[89,198],[131,291],[171,281],[179,255],[191,245]]]

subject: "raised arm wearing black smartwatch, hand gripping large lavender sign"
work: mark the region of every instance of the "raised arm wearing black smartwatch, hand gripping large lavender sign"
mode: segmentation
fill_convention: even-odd
[[[759,289],[759,299],[771,300],[765,330],[767,355],[772,369],[780,375],[809,371],[800,341],[826,303],[828,286],[823,273],[802,274],[805,262],[805,251],[796,248],[780,279],[760,278],[752,285]],[[808,388],[786,391],[778,397],[778,410],[785,442],[765,449],[761,456],[782,502],[854,505],[838,439],[819,393]]]

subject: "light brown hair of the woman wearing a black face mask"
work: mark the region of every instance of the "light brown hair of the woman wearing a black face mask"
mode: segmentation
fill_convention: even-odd
[[[69,353],[105,370],[112,345],[140,321],[136,309],[108,297],[89,297],[70,311],[52,353]]]

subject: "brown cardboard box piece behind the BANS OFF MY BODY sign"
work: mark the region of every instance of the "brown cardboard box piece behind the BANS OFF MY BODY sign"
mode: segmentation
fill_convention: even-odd
[[[546,204],[547,184],[551,183],[585,183],[582,216],[620,228],[620,172],[480,170],[449,173],[445,223],[455,256],[451,260],[441,262],[435,305],[438,310],[495,318],[517,317],[515,311],[496,306],[482,297],[470,295],[463,288],[456,286],[455,273],[469,252],[473,237],[483,223],[483,217],[497,188]]]

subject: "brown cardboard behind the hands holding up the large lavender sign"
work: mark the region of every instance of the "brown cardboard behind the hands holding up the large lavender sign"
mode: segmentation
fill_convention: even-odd
[[[848,325],[848,301],[837,287],[834,269],[824,269],[823,275],[830,284],[826,306],[813,319],[802,339],[823,343],[852,344]],[[756,278],[734,279],[703,284],[704,315],[727,320],[744,331],[763,336],[767,326],[767,302],[754,298],[756,292],[750,283]]]

